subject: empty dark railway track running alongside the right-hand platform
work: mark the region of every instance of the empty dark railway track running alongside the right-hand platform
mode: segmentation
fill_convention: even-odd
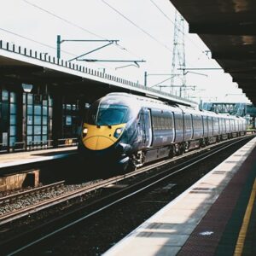
[[[101,181],[96,184],[92,184],[88,186],[87,188],[80,189],[79,191],[75,191],[72,193],[72,195],[66,195],[66,197],[62,198],[61,200],[70,200],[71,197],[76,197],[79,195],[83,195],[84,193],[89,193],[89,191],[93,191],[95,189],[113,189],[114,192],[109,192],[107,195],[102,196],[101,198],[98,198],[96,201],[90,202],[90,204],[87,204],[85,206],[77,207],[73,211],[66,212],[62,216],[59,216],[55,219],[50,219],[49,222],[46,222],[33,230],[28,230],[25,233],[23,233],[21,236],[23,238],[23,241],[20,241],[20,236],[13,236],[9,238],[8,240],[1,241],[0,247],[3,248],[4,252],[10,253],[9,255],[12,255],[13,253],[18,253],[26,247],[31,247],[33,244],[38,243],[39,241],[43,241],[44,239],[48,238],[49,236],[53,236],[58,232],[61,232],[61,230],[66,230],[68,227],[79,223],[80,221],[90,218],[94,216],[96,213],[101,212],[108,207],[113,206],[116,203],[119,203],[120,201],[124,201],[125,199],[131,197],[132,195],[136,195],[137,193],[149,189],[152,186],[154,186],[156,183],[160,183],[163,180],[166,180],[166,178],[171,177],[172,175],[183,172],[186,169],[188,169],[190,166],[194,166],[196,163],[200,162],[201,160],[205,160],[208,157],[210,157],[212,154],[218,154],[225,148],[229,148],[230,146],[240,143],[241,141],[247,140],[248,137],[242,137],[238,139],[234,139],[229,142],[221,143],[221,145],[218,144],[217,146],[212,146],[211,148],[204,148],[203,153],[196,155],[193,159],[186,160],[183,163],[179,163],[176,166],[170,166],[172,161],[178,160],[181,157],[177,157],[172,160],[163,160],[160,163],[156,163],[151,166],[145,166],[142,169],[128,173],[123,176],[119,177],[112,177],[108,180]],[[189,152],[189,154],[192,154]],[[194,152],[195,154],[195,152]],[[186,155],[187,156],[187,155]],[[148,171],[154,171],[151,172],[150,177],[142,178],[140,181],[137,181],[134,183],[134,176],[139,173],[148,172]],[[155,172],[156,171],[156,172]],[[148,176],[148,174],[147,174]],[[133,183],[129,181],[129,178],[133,180]],[[71,196],[71,197],[68,197]],[[58,199],[60,201],[60,199]],[[53,204],[56,204],[56,202],[51,202]],[[42,231],[44,230],[44,231]],[[44,234],[44,236],[42,236]],[[12,245],[13,251],[10,252],[10,244]],[[15,245],[15,247],[14,247]]]

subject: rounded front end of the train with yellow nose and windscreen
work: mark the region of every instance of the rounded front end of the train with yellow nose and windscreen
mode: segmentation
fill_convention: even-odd
[[[96,166],[125,170],[132,151],[131,129],[137,102],[128,96],[104,96],[93,103],[84,119],[79,152]]]

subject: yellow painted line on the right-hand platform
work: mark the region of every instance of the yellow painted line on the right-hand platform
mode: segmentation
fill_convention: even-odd
[[[250,199],[247,205],[247,211],[242,220],[241,229],[236,241],[236,249],[235,249],[234,256],[240,256],[242,253],[244,241],[247,235],[248,224],[251,218],[251,213],[253,211],[253,203],[254,203],[255,195],[256,195],[256,178],[254,179],[253,190],[251,192]]]

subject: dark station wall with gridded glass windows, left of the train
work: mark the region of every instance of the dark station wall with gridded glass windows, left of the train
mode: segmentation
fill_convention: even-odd
[[[80,108],[78,95],[59,88],[25,92],[21,84],[0,83],[0,153],[75,143]]]

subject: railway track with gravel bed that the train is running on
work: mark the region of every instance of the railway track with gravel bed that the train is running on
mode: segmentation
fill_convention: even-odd
[[[244,138],[244,137],[243,137]],[[242,139],[242,138],[240,138]],[[18,201],[22,198],[26,198],[28,195],[42,195],[41,197],[44,198],[44,200],[33,202],[32,204],[28,204],[26,202],[26,206],[22,206],[21,204],[18,204],[18,209],[16,207],[13,211],[7,211],[7,212],[1,212],[0,211],[0,226],[2,224],[9,223],[11,221],[14,221],[15,219],[26,217],[34,212],[39,212],[44,209],[47,209],[49,207],[55,207],[56,205],[59,205],[65,201],[73,200],[76,197],[88,194],[92,191],[96,191],[96,189],[102,189],[102,188],[117,188],[120,185],[117,185],[117,183],[124,182],[129,177],[136,177],[137,175],[142,174],[143,172],[154,172],[156,175],[159,175],[158,172],[161,172],[160,170],[165,168],[165,166],[171,164],[172,162],[176,162],[177,160],[182,160],[184,157],[188,158],[195,154],[201,154],[201,152],[207,152],[208,150],[212,150],[213,148],[218,148],[220,145],[225,145],[226,143],[231,143],[232,141],[236,142],[237,138],[234,138],[230,141],[224,141],[222,143],[218,144],[212,144],[207,146],[206,148],[199,148],[194,151],[190,151],[184,155],[173,157],[172,159],[168,160],[161,160],[160,162],[156,162],[154,164],[151,164],[150,166],[144,166],[134,172],[126,173],[125,175],[120,175],[116,177],[110,177],[108,179],[96,181],[96,183],[92,183],[89,185],[84,185],[84,187],[79,189],[74,189],[72,191],[67,191],[61,193],[61,195],[53,195],[49,196],[49,198],[44,198],[44,193],[49,190],[55,190],[58,188],[61,188],[64,186],[64,181],[58,182],[58,183],[52,183],[46,186],[42,186],[36,189],[30,189],[21,193],[17,193],[14,195],[8,195],[4,197],[0,197],[0,207],[3,205],[6,205],[7,203],[15,203],[15,201]],[[201,157],[201,156],[200,156]],[[175,166],[173,166],[175,167]],[[121,187],[124,187],[124,184],[121,185]]]

